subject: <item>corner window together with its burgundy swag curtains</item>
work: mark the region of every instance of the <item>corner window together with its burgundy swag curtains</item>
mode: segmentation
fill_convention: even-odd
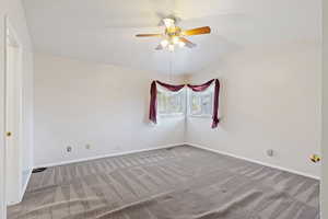
[[[187,87],[153,81],[149,119],[157,124],[157,120],[165,116],[212,117],[212,128],[216,128],[220,122],[218,116],[219,90],[220,82],[218,79],[200,85],[187,84]]]

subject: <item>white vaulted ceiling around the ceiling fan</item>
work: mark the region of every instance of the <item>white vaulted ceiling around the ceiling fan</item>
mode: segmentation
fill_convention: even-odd
[[[245,46],[320,39],[321,0],[24,0],[36,51],[167,73],[196,72]],[[198,46],[154,50],[160,16],[183,28],[209,25]]]

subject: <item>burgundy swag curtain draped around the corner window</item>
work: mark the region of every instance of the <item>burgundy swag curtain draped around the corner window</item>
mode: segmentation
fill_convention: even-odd
[[[189,89],[194,92],[202,92],[206,91],[212,83],[214,82],[214,103],[213,103],[213,113],[212,113],[212,128],[216,128],[220,123],[219,119],[219,94],[220,94],[220,81],[218,79],[212,79],[200,85],[191,85],[187,84]],[[185,84],[172,85],[167,83],[163,83],[161,81],[153,81],[151,84],[151,100],[150,100],[150,111],[149,111],[149,119],[154,124],[157,123],[157,87],[160,84],[172,92],[180,91]]]

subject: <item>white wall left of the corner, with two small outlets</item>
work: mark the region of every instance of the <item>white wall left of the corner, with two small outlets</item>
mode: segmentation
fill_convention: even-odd
[[[168,76],[43,54],[34,66],[35,165],[184,142],[184,118],[148,122],[151,81]]]

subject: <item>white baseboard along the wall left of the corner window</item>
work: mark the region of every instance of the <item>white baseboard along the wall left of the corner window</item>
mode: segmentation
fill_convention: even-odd
[[[159,149],[165,149],[165,148],[173,148],[177,146],[184,146],[185,143],[172,143],[172,145],[166,145],[166,146],[157,146],[154,148],[147,148],[147,149],[141,149],[141,150],[132,150],[132,151],[126,151],[126,152],[118,152],[118,153],[110,153],[110,154],[104,154],[104,155],[95,155],[95,157],[90,157],[90,158],[82,158],[82,159],[77,159],[77,160],[71,160],[71,161],[61,161],[57,163],[46,163],[44,165],[36,165],[36,168],[51,168],[51,166],[57,166],[57,165],[66,165],[66,164],[71,164],[71,163],[78,163],[78,162],[83,162],[83,161],[91,161],[91,160],[97,160],[102,158],[112,158],[112,157],[118,157],[118,155],[127,155],[131,153],[139,153],[139,152],[145,152],[145,151],[152,151],[152,150],[159,150]]]

